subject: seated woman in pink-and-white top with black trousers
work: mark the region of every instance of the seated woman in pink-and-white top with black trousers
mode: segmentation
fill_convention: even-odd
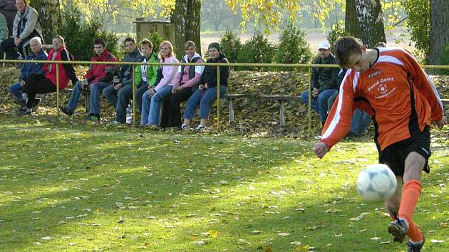
[[[182,57],[181,63],[204,63],[200,54],[196,51],[193,41],[187,41],[184,44],[185,56]],[[177,68],[175,77],[175,85],[172,88],[172,95],[168,102],[170,105],[169,127],[181,127],[181,107],[180,103],[189,100],[194,87],[200,82],[202,72],[205,70],[204,65],[180,65]]]

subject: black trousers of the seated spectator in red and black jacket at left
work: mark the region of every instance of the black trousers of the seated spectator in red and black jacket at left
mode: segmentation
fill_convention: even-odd
[[[26,78],[23,92],[28,95],[28,100],[26,101],[26,107],[33,107],[36,100],[37,94],[45,94],[56,92],[56,85],[53,85],[51,80],[45,78],[45,75],[33,74],[29,78]]]

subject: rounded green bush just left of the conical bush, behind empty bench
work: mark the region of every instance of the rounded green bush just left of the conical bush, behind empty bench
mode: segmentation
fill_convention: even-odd
[[[272,63],[275,48],[269,43],[267,38],[264,38],[262,33],[256,32],[242,46],[237,56],[238,63]],[[239,67],[239,70],[257,69],[253,67]]]

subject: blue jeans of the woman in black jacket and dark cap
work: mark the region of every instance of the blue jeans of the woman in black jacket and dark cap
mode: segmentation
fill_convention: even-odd
[[[220,86],[220,95],[224,95],[227,92],[225,85]],[[192,96],[187,101],[187,107],[185,107],[184,118],[188,120],[193,119],[195,109],[200,105],[200,119],[209,119],[210,103],[217,100],[217,87],[207,88],[207,90],[195,90]]]

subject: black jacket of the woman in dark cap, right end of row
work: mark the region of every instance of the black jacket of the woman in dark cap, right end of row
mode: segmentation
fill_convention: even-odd
[[[224,54],[220,54],[216,59],[208,59],[206,63],[229,63]],[[227,86],[227,78],[229,78],[229,66],[220,66],[220,85]],[[213,88],[217,86],[217,66],[206,65],[205,70],[202,72],[200,84],[207,83],[207,88]]]

